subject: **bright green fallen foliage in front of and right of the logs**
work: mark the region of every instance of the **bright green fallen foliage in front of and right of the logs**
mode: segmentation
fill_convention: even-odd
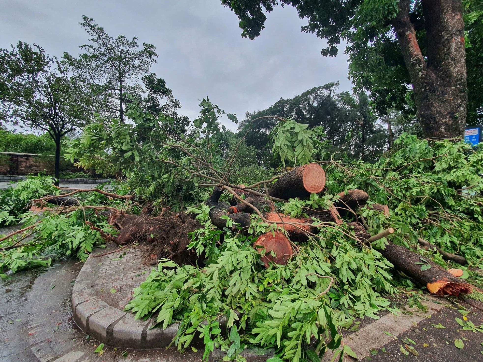
[[[374,209],[358,211],[371,234],[393,227],[391,241],[419,253],[422,268],[428,268],[428,260],[454,263],[421,249],[417,237],[465,255],[469,267],[458,267],[469,273],[470,282],[481,285],[482,278],[470,267],[483,268],[483,151],[464,142],[429,143],[404,133],[395,151],[375,164],[328,161],[325,168],[326,195],[291,199],[282,205],[284,213],[303,217],[305,209],[327,208],[341,191],[363,189],[370,195],[369,204],[391,209],[389,217]],[[246,345],[275,348],[276,356],[290,361],[310,358],[315,352],[309,346],[317,346],[317,354],[335,349],[336,356],[352,356],[341,345],[341,328],[355,317],[378,318],[381,309],[390,309],[385,295],[413,288],[407,277],[391,276],[392,265],[378,251],[385,238],[366,247],[350,237],[352,229],[345,223],[320,227],[317,237],[297,245],[287,265],[265,268],[252,245],[273,225],[252,215],[248,235],[218,230],[202,207],[189,209],[204,223],[204,229],[193,233],[190,247],[204,258],[204,266],[162,260],[127,306],[135,318],[154,316],[163,328],[179,321],[173,340],[178,349],[200,334],[204,358],[221,348],[227,359],[235,359]],[[226,335],[221,318],[227,321]]]

